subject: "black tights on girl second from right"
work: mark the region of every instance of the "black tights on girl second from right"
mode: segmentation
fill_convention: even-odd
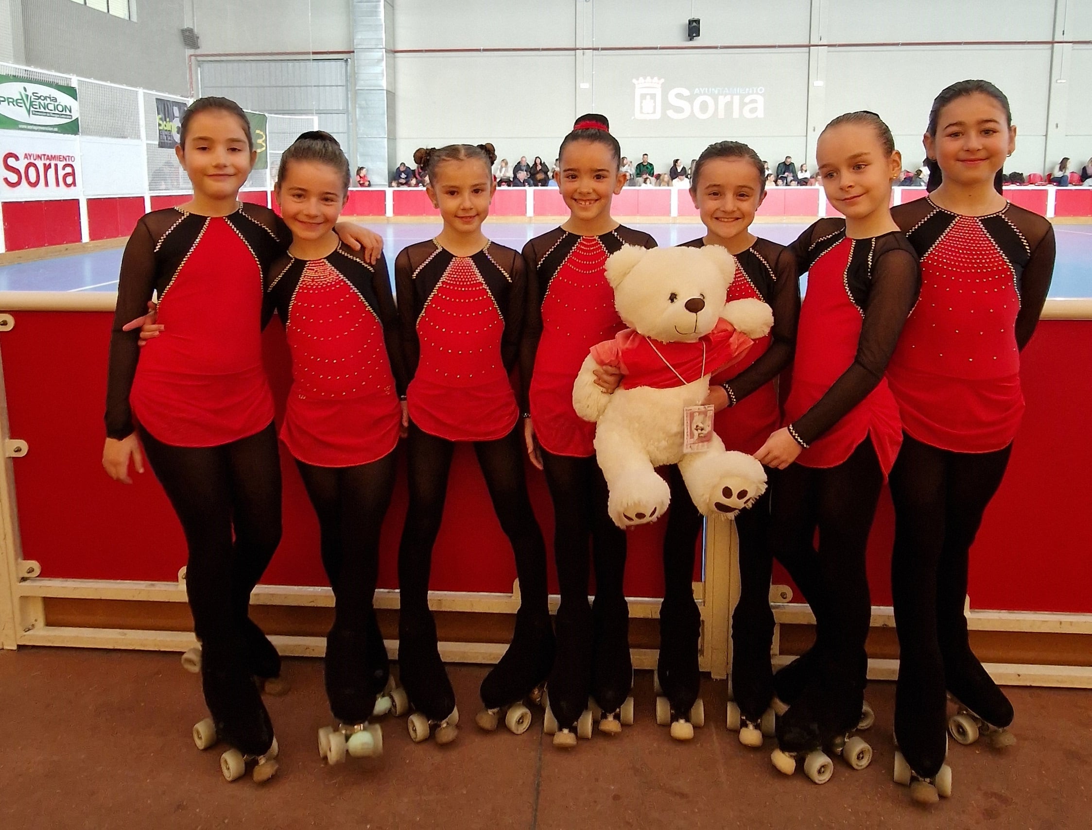
[[[774,474],[770,546],[828,646],[802,697],[778,721],[782,748],[809,748],[804,744],[848,730],[860,717],[871,617],[865,552],[882,483],[868,438],[836,467],[794,464]]]

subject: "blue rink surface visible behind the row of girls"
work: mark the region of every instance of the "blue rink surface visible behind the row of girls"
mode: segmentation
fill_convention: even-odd
[[[524,243],[556,227],[546,222],[486,222],[486,234],[502,245],[523,248]],[[697,222],[634,224],[631,227],[651,233],[661,245],[675,245],[699,237],[704,231]],[[804,225],[756,222],[751,229],[760,237],[787,244],[804,230]],[[384,252],[391,268],[394,255],[404,246],[429,239],[440,230],[438,222],[379,222],[372,228],[383,234]],[[1092,225],[1057,225],[1058,258],[1051,285],[1051,297],[1092,298]],[[115,291],[122,249],[59,256],[52,260],[0,267],[0,291]]]

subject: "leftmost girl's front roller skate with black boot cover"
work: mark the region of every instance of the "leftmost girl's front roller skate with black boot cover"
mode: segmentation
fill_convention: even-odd
[[[203,750],[223,741],[230,747],[219,757],[224,778],[236,781],[251,766],[253,780],[264,783],[277,771],[277,743],[269,712],[248,675],[233,667],[238,665],[235,650],[206,650],[211,653],[202,661],[201,678],[211,717],[194,724],[193,743]]]

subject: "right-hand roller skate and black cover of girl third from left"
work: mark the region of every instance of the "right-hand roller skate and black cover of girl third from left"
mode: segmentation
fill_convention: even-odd
[[[495,732],[505,711],[509,732],[522,735],[531,726],[531,710],[525,700],[542,703],[544,686],[554,666],[554,629],[549,614],[534,618],[521,609],[515,615],[515,631],[503,657],[482,681],[482,703],[477,725]]]

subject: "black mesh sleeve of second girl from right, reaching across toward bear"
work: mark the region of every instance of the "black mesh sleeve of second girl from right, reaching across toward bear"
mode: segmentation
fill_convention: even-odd
[[[879,384],[921,285],[921,265],[910,251],[899,248],[877,257],[853,364],[792,424],[805,445],[838,423]]]

